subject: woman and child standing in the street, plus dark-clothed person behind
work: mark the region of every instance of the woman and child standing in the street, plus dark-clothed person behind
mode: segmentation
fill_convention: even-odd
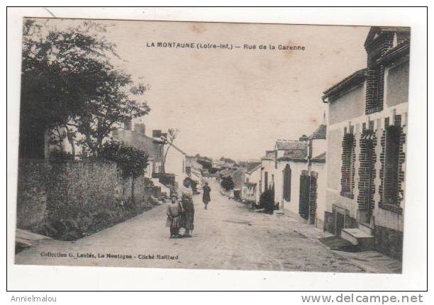
[[[211,201],[211,187],[208,186],[208,182],[205,182],[203,191],[202,201],[204,202],[205,209],[208,209],[208,203]],[[179,200],[179,193],[181,200]],[[170,194],[166,214],[166,226],[170,228],[170,238],[191,237],[191,232],[194,230],[194,204],[191,179],[184,179],[178,189],[178,194],[177,192]],[[184,234],[182,235],[179,233],[181,228],[184,228]]]

